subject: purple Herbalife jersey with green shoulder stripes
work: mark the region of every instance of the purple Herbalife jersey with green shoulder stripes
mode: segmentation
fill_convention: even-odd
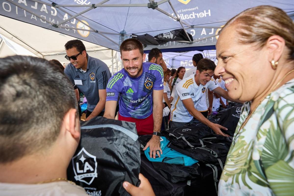
[[[145,119],[153,113],[153,89],[163,89],[163,70],[160,65],[143,62],[143,73],[133,78],[122,69],[114,74],[106,87],[106,101],[119,99],[119,114]]]

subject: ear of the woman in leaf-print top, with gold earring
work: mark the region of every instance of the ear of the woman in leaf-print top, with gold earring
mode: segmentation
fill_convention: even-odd
[[[285,48],[285,40],[278,35],[270,36],[265,45],[268,51],[268,61],[271,62],[274,60],[277,62]]]

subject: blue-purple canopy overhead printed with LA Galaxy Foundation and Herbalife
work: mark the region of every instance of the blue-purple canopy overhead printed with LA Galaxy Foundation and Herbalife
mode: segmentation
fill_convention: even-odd
[[[272,5],[290,16],[294,13],[292,0],[227,0],[216,2],[191,0],[3,0],[0,15],[31,23],[59,33],[76,37],[119,51],[120,43],[131,34],[164,33],[183,28],[193,36],[192,41],[169,41],[163,45],[147,45],[145,50],[159,49],[189,51],[214,49],[217,32],[230,18],[241,11]],[[58,3],[58,4],[57,4]],[[125,4],[122,4],[125,3]],[[52,43],[56,43],[54,37]],[[206,48],[208,47],[208,48]],[[184,50],[181,48],[185,48]],[[201,48],[201,49],[200,49]]]

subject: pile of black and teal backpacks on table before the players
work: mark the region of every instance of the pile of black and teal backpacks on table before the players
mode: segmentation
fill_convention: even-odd
[[[217,195],[220,174],[238,124],[240,104],[208,117],[229,137],[216,135],[202,123],[162,131],[163,154],[150,158],[148,149],[141,151],[141,173],[148,178],[156,195]],[[138,138],[141,150],[151,136]]]

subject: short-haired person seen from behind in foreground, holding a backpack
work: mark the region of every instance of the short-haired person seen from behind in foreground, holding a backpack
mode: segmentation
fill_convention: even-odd
[[[54,88],[52,88],[54,87]],[[72,84],[44,59],[0,59],[1,195],[87,195],[66,180],[66,169],[80,139]],[[124,182],[133,196],[154,195]]]

